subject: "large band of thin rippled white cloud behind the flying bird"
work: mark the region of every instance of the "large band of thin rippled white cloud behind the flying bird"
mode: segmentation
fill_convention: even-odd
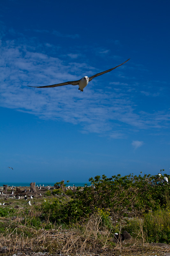
[[[138,111],[128,92],[129,86],[127,88],[128,84],[124,82],[112,82],[122,85],[120,91],[102,80],[104,89],[101,89],[99,81],[102,78],[96,78],[83,93],[78,91],[78,86],[72,85],[42,89],[27,87],[78,80],[98,72],[85,62],[65,64],[59,57],[50,56],[48,44],[29,44],[25,39],[2,41],[0,65],[3,107],[43,119],[80,124],[82,132],[107,134],[114,139],[124,138],[128,128],[161,128],[169,124],[170,114],[166,110]],[[121,132],[118,132],[119,127],[122,127]]]

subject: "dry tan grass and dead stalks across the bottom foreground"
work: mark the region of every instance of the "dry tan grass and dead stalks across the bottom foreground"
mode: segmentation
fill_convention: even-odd
[[[49,252],[52,255],[165,255],[170,248],[146,244],[144,239],[138,240],[142,228],[135,239],[129,243],[115,244],[113,234],[107,228],[101,228],[101,217],[93,215],[84,223],[77,223],[70,229],[53,227],[45,230],[29,228],[20,219],[0,218],[10,223],[7,232],[1,234],[0,248],[7,247],[6,254],[16,252]],[[16,228],[11,232],[11,226]],[[21,232],[20,230],[23,230]],[[31,236],[26,236],[26,231]],[[166,245],[165,245],[166,246]],[[151,254],[152,253],[152,254]]]

